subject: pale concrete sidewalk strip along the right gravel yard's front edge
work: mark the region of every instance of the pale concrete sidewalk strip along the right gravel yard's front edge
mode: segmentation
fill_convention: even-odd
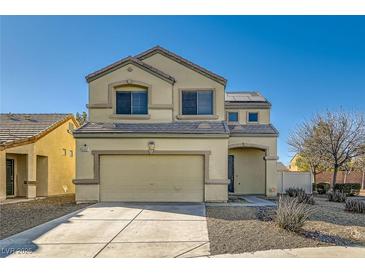
[[[308,247],[272,249],[254,253],[222,254],[209,258],[365,258],[364,247]]]

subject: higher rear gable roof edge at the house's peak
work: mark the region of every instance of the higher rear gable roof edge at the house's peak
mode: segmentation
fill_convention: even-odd
[[[193,69],[195,70],[196,72],[200,73],[200,74],[203,74],[204,76],[207,76],[219,83],[221,83],[222,85],[226,85],[227,84],[227,80],[218,75],[218,74],[215,74],[214,72],[211,72],[210,70],[207,70],[206,68],[203,68],[197,64],[194,64],[193,62],[185,59],[184,57],[181,57],[180,55],[177,55],[176,53],[174,52],[171,52],[161,46],[155,46],[149,50],[146,50],[145,52],[142,52],[136,56],[134,56],[135,58],[139,59],[139,60],[144,60],[146,58],[148,58],[149,56],[152,56],[156,53],[160,53],[170,59],[173,59],[174,61],[190,68],[190,69]]]

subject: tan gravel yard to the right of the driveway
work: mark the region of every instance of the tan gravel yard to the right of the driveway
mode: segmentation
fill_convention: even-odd
[[[319,246],[365,246],[365,216],[344,211],[343,203],[315,198],[315,214],[299,233],[276,226],[275,209],[207,207],[213,255]]]

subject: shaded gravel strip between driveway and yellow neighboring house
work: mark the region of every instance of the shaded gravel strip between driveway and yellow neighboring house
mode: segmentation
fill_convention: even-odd
[[[0,205],[0,239],[51,221],[90,204],[76,204],[74,195]]]

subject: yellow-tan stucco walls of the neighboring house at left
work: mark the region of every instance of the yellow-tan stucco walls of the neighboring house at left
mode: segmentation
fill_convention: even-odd
[[[5,158],[15,160],[14,179],[17,196],[26,195],[27,187],[24,184],[25,181],[44,180],[44,178],[39,176],[44,176],[45,174],[48,174],[48,195],[75,192],[75,186],[72,183],[72,180],[75,178],[75,140],[72,134],[67,132],[69,123],[74,124],[70,119],[35,143],[11,147],[1,151],[2,155],[4,155],[4,159],[0,159],[1,165],[5,165]],[[66,150],[66,155],[64,149]],[[47,157],[47,172],[42,171],[40,174],[37,174],[37,155]],[[4,175],[1,174],[0,179],[0,197],[5,197],[6,170],[4,170]],[[67,191],[65,192],[64,189],[67,189]]]

